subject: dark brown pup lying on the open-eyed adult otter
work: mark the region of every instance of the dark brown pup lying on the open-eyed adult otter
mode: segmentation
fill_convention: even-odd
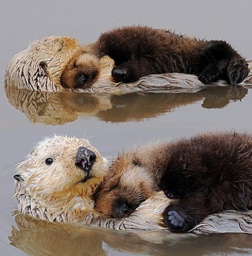
[[[252,137],[204,134],[119,155],[95,195],[95,210],[129,216],[154,191],[173,201],[164,225],[187,232],[209,214],[252,208]]]

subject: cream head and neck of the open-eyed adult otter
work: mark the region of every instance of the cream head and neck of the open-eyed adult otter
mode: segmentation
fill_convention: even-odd
[[[77,205],[79,209],[85,201],[90,203],[90,196],[106,171],[106,159],[86,139],[47,138],[17,168],[14,178],[18,208],[23,211],[27,207],[24,203],[27,198],[24,201],[21,198],[25,195],[36,208],[47,211],[68,213],[67,208],[73,210]]]

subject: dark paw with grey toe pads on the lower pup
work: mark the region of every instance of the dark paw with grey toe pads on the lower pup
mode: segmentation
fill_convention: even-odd
[[[187,214],[173,208],[166,207],[164,214],[164,225],[173,233],[182,233],[190,230],[194,225],[187,220]]]

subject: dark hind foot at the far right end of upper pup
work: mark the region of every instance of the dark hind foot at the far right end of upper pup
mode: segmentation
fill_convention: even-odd
[[[249,74],[248,64],[242,59],[233,59],[226,70],[226,80],[230,85],[237,85]]]

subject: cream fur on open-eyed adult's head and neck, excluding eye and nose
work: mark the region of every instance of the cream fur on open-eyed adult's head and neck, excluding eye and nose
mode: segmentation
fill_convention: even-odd
[[[84,172],[75,166],[78,148],[85,146],[96,153],[92,178],[84,184]],[[47,166],[45,160],[54,159]],[[81,221],[93,211],[93,194],[107,171],[107,160],[86,139],[54,136],[40,142],[21,162],[15,181],[18,209],[49,221]]]

